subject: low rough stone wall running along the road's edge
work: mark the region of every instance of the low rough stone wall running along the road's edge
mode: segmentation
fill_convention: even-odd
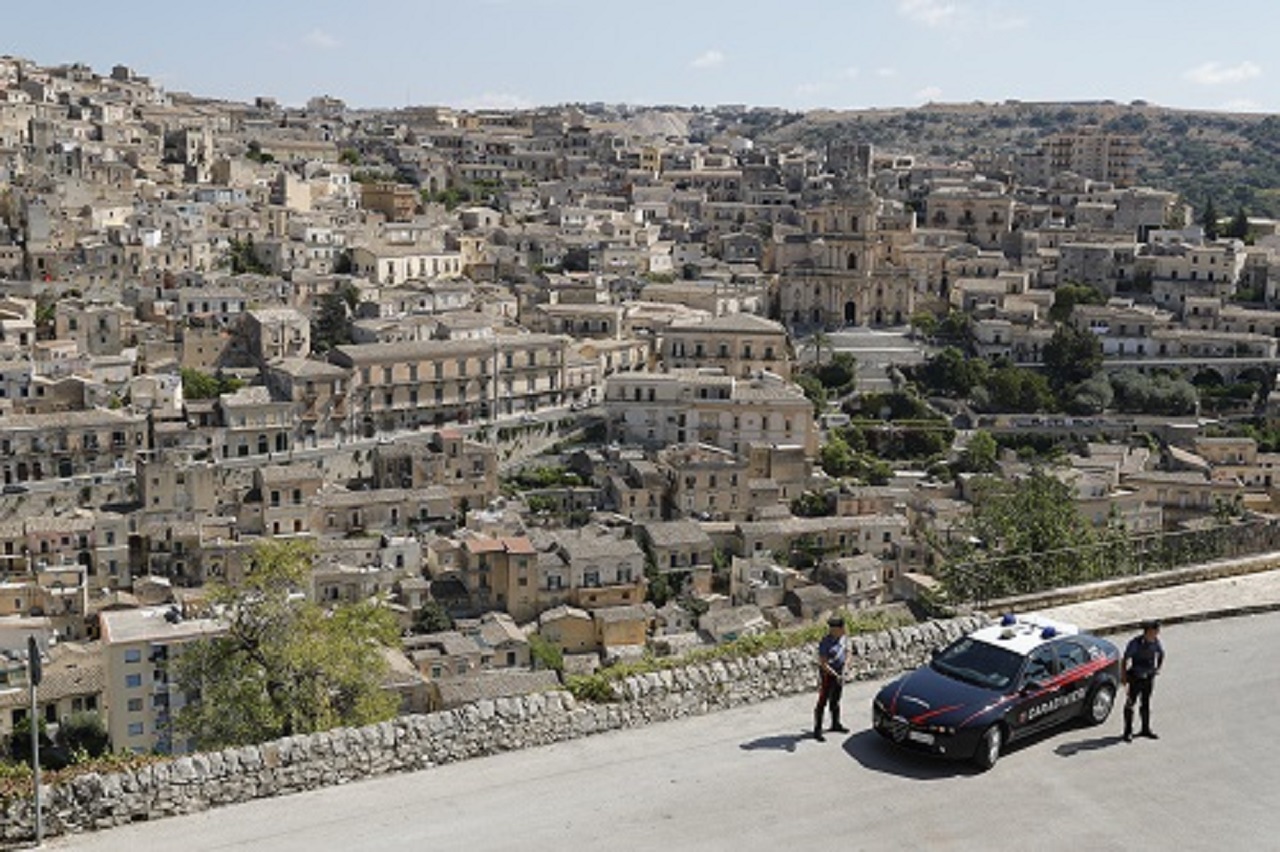
[[[964,617],[854,636],[849,679],[881,678],[919,665],[931,649],[984,620]],[[620,681],[618,700],[609,704],[579,702],[567,692],[479,701],[366,728],[175,757],[133,771],[81,775],[45,788],[45,832],[68,834],[192,814],[796,695],[815,686],[815,654],[808,645],[639,674]],[[5,803],[0,816],[5,844],[35,835],[29,798]]]

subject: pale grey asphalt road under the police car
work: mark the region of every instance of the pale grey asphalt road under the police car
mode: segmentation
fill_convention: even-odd
[[[1158,742],[1068,728],[980,774],[904,753],[850,684],[844,741],[809,697],[251,802],[56,849],[1275,849],[1280,614],[1167,627]]]

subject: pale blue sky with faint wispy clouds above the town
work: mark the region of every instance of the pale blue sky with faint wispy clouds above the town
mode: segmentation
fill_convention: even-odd
[[[808,110],[1140,99],[1280,113],[1276,0],[5,5],[0,54],[100,73],[124,64],[169,91],[238,101]]]

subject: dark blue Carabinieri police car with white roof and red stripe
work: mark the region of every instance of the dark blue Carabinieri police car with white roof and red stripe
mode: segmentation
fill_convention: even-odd
[[[1101,724],[1120,652],[1071,624],[1005,615],[879,691],[872,724],[892,742],[991,769],[1006,743],[1075,719]]]

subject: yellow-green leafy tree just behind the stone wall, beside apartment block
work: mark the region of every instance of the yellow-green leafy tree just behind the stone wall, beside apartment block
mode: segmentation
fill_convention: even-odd
[[[398,643],[390,610],[374,603],[330,610],[306,600],[315,546],[257,545],[236,587],[209,586],[225,631],[186,645],[173,663],[178,688],[198,698],[175,719],[200,748],[223,748],[396,715],[383,688],[384,655]]]

